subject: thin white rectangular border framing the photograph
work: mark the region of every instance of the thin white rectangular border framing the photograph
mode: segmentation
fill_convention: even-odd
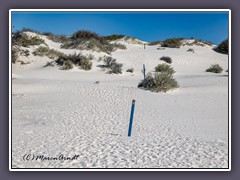
[[[12,12],[228,12],[228,169],[12,169]],[[10,9],[9,10],[9,171],[231,171],[231,10],[230,9]]]

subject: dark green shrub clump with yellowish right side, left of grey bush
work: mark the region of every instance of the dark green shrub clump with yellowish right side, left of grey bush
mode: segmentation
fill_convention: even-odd
[[[67,62],[67,64],[69,64],[68,61],[84,70],[91,70],[92,68],[92,62],[90,61],[90,59],[87,56],[82,55],[81,53],[60,56],[56,60],[56,63],[60,66],[65,66],[64,63]]]

